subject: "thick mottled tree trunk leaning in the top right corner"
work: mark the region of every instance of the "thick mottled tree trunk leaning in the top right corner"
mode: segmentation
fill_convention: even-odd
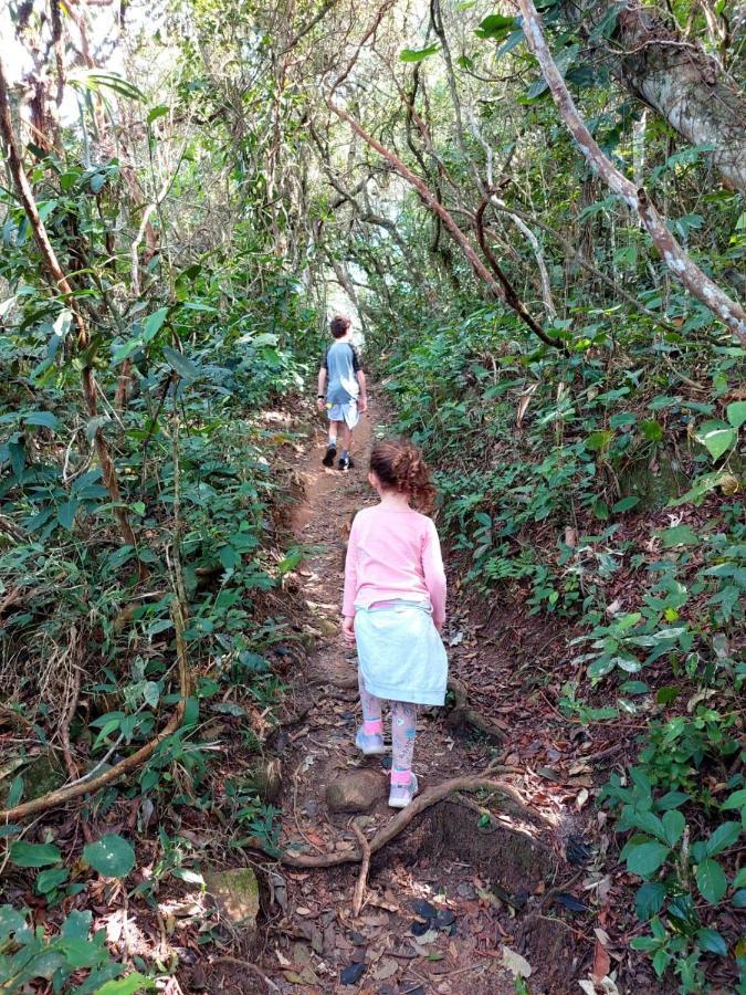
[[[592,31],[613,2],[566,2],[565,18]],[[599,54],[637,97],[658,111],[692,145],[714,146],[713,163],[726,184],[746,192],[746,98],[703,49],[681,39],[650,7],[628,3],[612,44]]]

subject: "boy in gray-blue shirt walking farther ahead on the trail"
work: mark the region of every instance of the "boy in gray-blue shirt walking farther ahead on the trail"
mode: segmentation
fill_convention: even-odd
[[[329,416],[329,441],[322,462],[325,467],[334,465],[338,440],[342,446],[338,467],[345,472],[353,465],[349,458],[353,429],[367,409],[368,398],[360,357],[351,342],[350,320],[337,315],[332,318],[329,328],[334,342],[324,354],[318,370],[316,398],[318,410],[326,408]]]

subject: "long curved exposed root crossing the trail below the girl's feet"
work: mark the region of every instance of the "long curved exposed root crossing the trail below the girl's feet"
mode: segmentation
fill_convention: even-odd
[[[416,816],[421,811],[448,798],[453,792],[480,792],[491,790],[500,792],[506,795],[515,805],[515,807],[529,819],[540,818],[539,814],[523,800],[518,792],[513,785],[505,784],[503,781],[494,781],[488,775],[500,769],[495,764],[491,764],[482,774],[472,774],[466,777],[453,777],[444,781],[434,787],[429,788],[418,795],[407,808],[395,816],[386,824],[370,840],[370,856],[382,849],[388,842],[397,837],[403,829],[409,826]],[[322,853],[318,857],[296,853],[293,850],[285,850],[280,856],[280,861],[288,867],[337,867],[340,863],[358,863],[364,859],[363,849],[345,850],[344,852]]]

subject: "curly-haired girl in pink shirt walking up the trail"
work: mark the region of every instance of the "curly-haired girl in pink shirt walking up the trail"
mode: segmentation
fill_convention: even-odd
[[[403,808],[417,794],[412,753],[417,705],[442,705],[448,660],[445,573],[438,533],[427,515],[435,494],[419,450],[377,442],[368,480],[380,503],[353,523],[345,563],[343,635],[357,642],[363,725],[356,744],[366,756],[386,752],[382,699],[391,704],[391,794]]]

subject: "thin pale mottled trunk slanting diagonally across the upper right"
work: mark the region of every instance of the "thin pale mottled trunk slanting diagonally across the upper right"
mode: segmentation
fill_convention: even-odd
[[[746,311],[692,261],[687,252],[669,231],[664,219],[656,211],[644,188],[637,188],[601,151],[598,143],[588,130],[588,126],[581,118],[578,108],[575,106],[570,92],[565,85],[565,80],[551,57],[544,36],[542,21],[533,0],[517,0],[517,3],[523,14],[524,31],[526,32],[528,46],[536,56],[560,117],[588,164],[607,184],[609,189],[620,196],[633,211],[639,213],[663,262],[679,277],[686,290],[701,301],[705,307],[708,307],[746,345]]]

